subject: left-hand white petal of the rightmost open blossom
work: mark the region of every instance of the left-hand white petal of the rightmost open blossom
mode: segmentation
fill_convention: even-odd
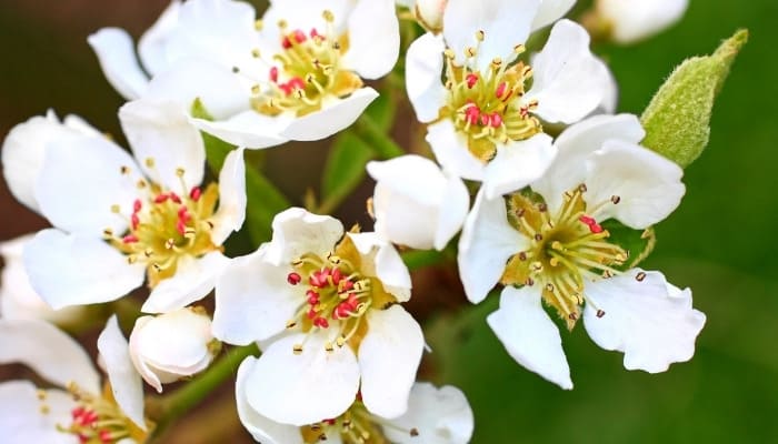
[[[465,220],[457,256],[465,294],[475,304],[499,282],[510,256],[529,246],[529,241],[508,223],[502,198],[489,200],[483,194],[483,190],[478,193]]]

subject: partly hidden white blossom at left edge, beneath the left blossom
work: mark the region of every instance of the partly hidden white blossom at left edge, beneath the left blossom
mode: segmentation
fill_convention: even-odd
[[[0,242],[0,255],[6,263],[0,275],[0,317],[43,320],[54,324],[71,324],[83,315],[83,307],[53,310],[32,290],[24,271],[22,251],[31,234]]]

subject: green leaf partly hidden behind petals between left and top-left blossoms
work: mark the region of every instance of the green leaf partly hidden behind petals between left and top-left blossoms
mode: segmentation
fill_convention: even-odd
[[[191,108],[192,117],[205,120],[212,120],[211,114],[206,110],[202,101],[196,99]],[[218,176],[225,158],[235,149],[235,145],[225,142],[206,132],[202,141],[206,144],[206,159],[213,175]],[[259,172],[251,163],[246,164],[246,222],[241,231],[248,232],[253,246],[269,241],[272,234],[270,224],[279,212],[286,210],[291,204],[287,198]]]

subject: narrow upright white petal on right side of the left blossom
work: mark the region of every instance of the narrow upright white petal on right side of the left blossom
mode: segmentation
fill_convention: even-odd
[[[246,220],[246,163],[243,150],[232,150],[219,172],[219,209],[211,218],[211,241],[221,245]]]

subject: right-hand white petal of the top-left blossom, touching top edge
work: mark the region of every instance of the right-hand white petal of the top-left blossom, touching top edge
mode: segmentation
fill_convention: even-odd
[[[393,0],[359,1],[348,20],[349,49],[341,63],[363,79],[391,71],[400,54],[400,23]]]

